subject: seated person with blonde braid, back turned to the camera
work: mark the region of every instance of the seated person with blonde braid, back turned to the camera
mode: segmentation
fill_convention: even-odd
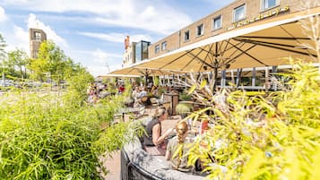
[[[187,166],[186,152],[189,150],[189,147],[185,144],[188,133],[186,121],[179,121],[176,125],[176,131],[177,136],[172,138],[168,143],[166,159],[170,160],[170,164],[173,168],[179,171],[189,172],[193,169],[193,166]],[[182,152],[177,153],[177,150],[181,150]],[[177,156],[173,157],[174,154],[177,154]]]

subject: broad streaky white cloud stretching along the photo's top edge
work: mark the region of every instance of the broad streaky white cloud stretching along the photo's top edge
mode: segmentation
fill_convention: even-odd
[[[78,0],[76,3],[65,0],[5,0],[4,4],[35,12],[90,13],[86,14],[86,23],[151,30],[162,34],[172,33],[192,22],[185,13],[178,12],[161,0],[139,0],[138,3],[134,0],[95,0],[94,3],[91,0]]]

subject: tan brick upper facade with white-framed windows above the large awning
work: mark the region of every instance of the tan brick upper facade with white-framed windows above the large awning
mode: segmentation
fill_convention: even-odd
[[[320,4],[320,0],[313,1]],[[149,59],[164,55],[180,47],[219,35],[229,30],[255,25],[255,22],[272,19],[282,14],[302,10],[301,0],[237,0],[186,26],[149,47]],[[165,43],[166,49],[157,47]]]

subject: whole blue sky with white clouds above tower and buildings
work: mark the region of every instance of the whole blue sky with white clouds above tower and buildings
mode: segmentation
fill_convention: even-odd
[[[124,39],[151,43],[233,0],[0,0],[0,33],[29,54],[29,28],[39,28],[94,76],[121,67]],[[109,68],[108,68],[109,67]]]

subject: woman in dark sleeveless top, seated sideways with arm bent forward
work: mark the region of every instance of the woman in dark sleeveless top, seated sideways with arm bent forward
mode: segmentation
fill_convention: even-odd
[[[146,134],[143,135],[143,146],[151,155],[164,156],[166,154],[166,138],[173,129],[161,134],[161,122],[167,119],[168,113],[165,107],[159,107],[151,122],[146,125]]]

